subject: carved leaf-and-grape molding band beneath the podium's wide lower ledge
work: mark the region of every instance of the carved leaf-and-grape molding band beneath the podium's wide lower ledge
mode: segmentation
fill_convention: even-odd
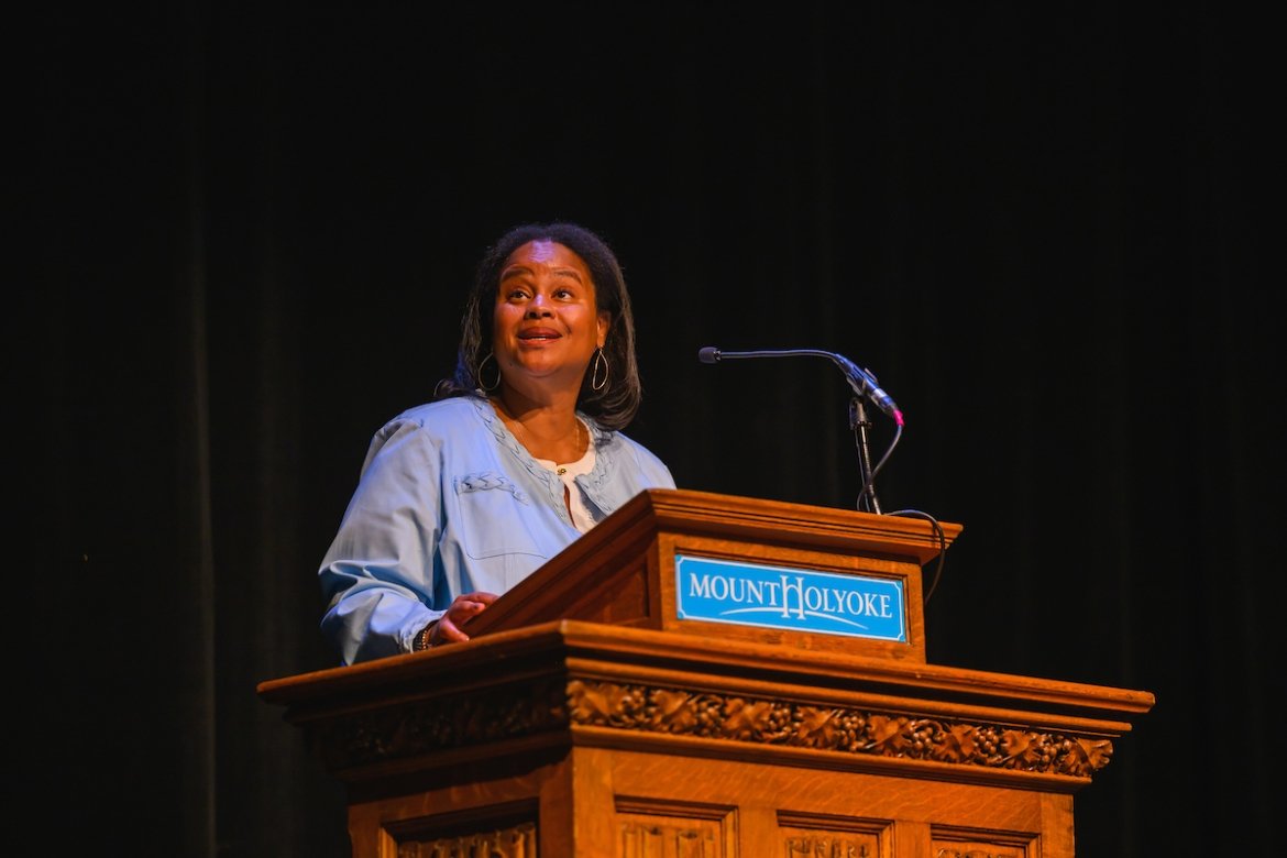
[[[583,679],[356,713],[318,726],[314,738],[329,767],[347,768],[568,726],[1071,777],[1103,769],[1113,751],[1100,737]]]

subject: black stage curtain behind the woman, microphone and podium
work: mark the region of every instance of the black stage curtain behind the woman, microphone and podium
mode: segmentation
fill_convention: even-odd
[[[646,388],[628,434],[681,486],[852,508],[833,365],[696,358],[840,352],[906,413],[883,508],[964,525],[929,660],[1157,695],[1077,796],[1079,854],[1270,845],[1266,22],[1199,3],[37,18],[14,33],[9,700],[55,852],[347,854],[344,795],[255,686],[336,662],[315,569],[367,443],[450,372],[486,242],[551,219],[620,255]]]

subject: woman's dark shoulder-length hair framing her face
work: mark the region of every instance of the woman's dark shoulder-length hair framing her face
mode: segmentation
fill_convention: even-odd
[[[638,365],[634,361],[634,315],[631,296],[625,291],[625,278],[616,255],[595,233],[584,226],[568,223],[524,224],[499,238],[483,256],[474,275],[474,286],[465,304],[461,319],[461,345],[456,354],[456,374],[438,385],[436,396],[479,395],[479,367],[492,354],[492,319],[501,271],[510,253],[528,242],[548,241],[562,244],[579,256],[589,269],[595,282],[595,304],[600,313],[607,313],[611,322],[604,340],[604,358],[607,360],[607,383],[602,390],[591,386],[602,373],[595,372],[597,360],[591,359],[589,369],[577,395],[577,408],[595,418],[604,428],[624,428],[638,410],[642,397]],[[494,359],[493,359],[494,364]]]

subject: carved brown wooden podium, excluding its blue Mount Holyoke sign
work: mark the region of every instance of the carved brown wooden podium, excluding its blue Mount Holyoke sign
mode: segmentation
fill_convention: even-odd
[[[1071,858],[1073,794],[1153,696],[925,664],[921,566],[959,533],[647,491],[468,643],[259,693],[359,858]],[[677,558],[897,587],[905,634],[691,619]]]

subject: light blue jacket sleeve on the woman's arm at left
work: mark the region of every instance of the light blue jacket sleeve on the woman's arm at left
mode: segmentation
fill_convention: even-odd
[[[344,664],[409,652],[432,610],[441,530],[439,444],[398,418],[372,439],[349,508],[322,561],[322,633]]]

